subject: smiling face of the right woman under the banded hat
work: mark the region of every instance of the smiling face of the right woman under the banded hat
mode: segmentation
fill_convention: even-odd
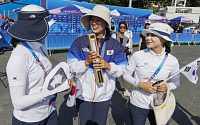
[[[153,33],[147,33],[145,40],[147,43],[147,48],[151,48],[157,54],[162,52],[163,44],[166,42],[165,39]]]

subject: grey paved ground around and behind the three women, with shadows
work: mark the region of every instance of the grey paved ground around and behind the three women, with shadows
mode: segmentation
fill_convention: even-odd
[[[136,48],[134,48],[136,50]],[[11,51],[0,55],[0,78],[6,87],[0,82],[0,125],[11,125],[13,106],[10,100],[9,88],[7,87],[6,63]],[[172,54],[177,57],[180,67],[200,57],[200,45],[197,46],[175,46]],[[67,53],[53,54],[50,57],[53,65],[59,62],[66,62]],[[200,76],[200,70],[197,71]],[[68,108],[66,99],[69,92],[58,94],[56,105],[58,107],[58,118],[60,125],[77,125],[76,108]],[[170,119],[170,125],[200,125],[200,81],[195,85],[190,83],[181,74],[181,86],[173,91],[176,97],[176,110]],[[108,113],[107,125],[130,125],[127,97],[124,97],[122,90],[117,83],[115,92],[111,99]],[[148,121],[146,125],[149,125]]]

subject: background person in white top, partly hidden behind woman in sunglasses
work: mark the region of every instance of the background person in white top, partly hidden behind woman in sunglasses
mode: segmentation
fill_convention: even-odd
[[[125,31],[124,35],[129,38],[129,42],[126,44],[126,47],[129,48],[129,52],[132,54],[133,53],[133,49],[132,49],[132,47],[133,47],[133,40],[132,40],[133,33],[132,33],[131,30],[128,29],[130,27],[129,22],[126,22],[126,24],[127,24],[127,30]],[[129,55],[128,55],[128,57],[129,57]]]

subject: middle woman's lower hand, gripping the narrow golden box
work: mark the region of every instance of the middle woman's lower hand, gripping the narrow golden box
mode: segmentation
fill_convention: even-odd
[[[100,61],[93,61],[93,66],[96,68],[96,69],[107,69],[107,70],[110,70],[111,69],[111,65],[110,63],[106,62],[103,57],[101,55],[97,55],[97,57],[100,58]]]

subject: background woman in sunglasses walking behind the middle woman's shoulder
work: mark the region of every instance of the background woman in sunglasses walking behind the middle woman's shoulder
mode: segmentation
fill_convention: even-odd
[[[126,22],[120,22],[119,23],[119,32],[116,34],[113,34],[112,38],[117,39],[122,44],[122,46],[124,47],[124,50],[125,50],[126,59],[128,60],[128,55],[130,55],[131,53],[129,52],[128,47],[126,47],[126,45],[129,43],[129,38],[124,35],[124,33],[127,29],[128,28],[127,28]],[[122,76],[119,77],[119,83],[121,85],[121,88],[124,89],[124,96],[130,96],[130,92],[128,91],[127,88],[130,88],[131,85],[129,83],[127,83],[122,78]]]

